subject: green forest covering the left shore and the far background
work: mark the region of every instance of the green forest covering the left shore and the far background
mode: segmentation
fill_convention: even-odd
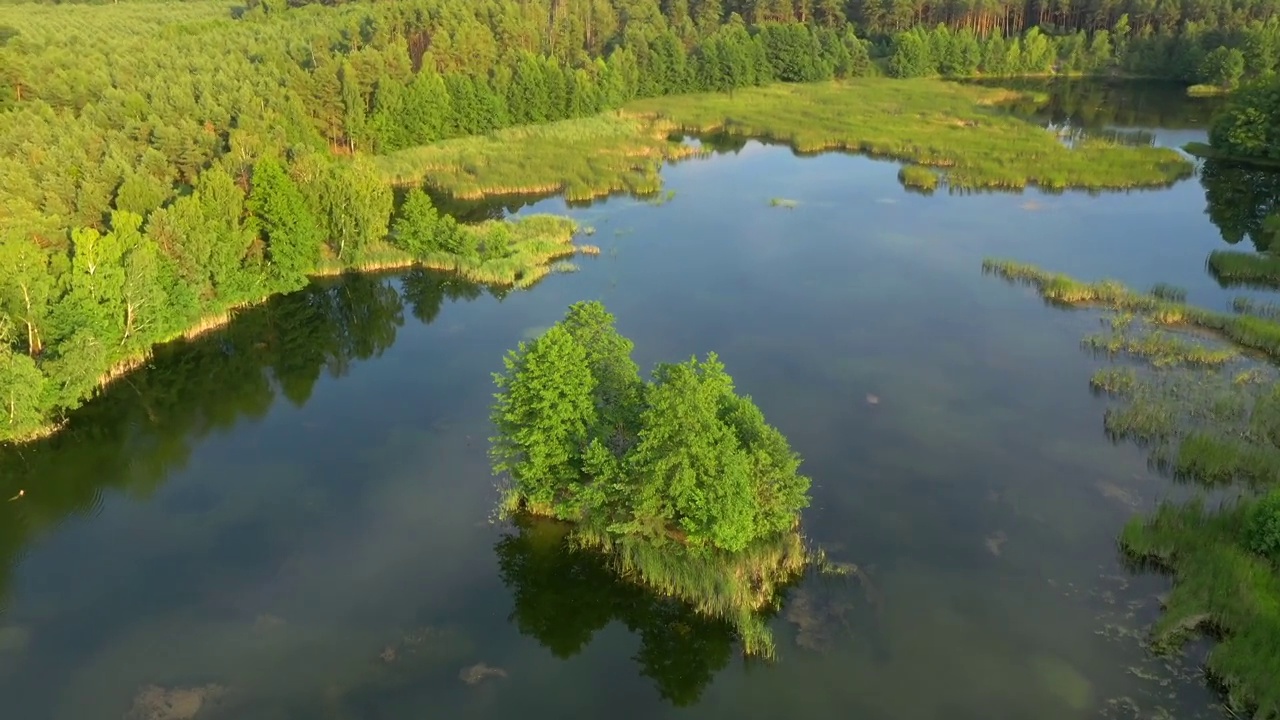
[[[1268,4],[1165,0],[3,4],[0,441],[317,269],[545,255],[420,193],[397,211],[370,152],[879,65],[1194,81],[1221,46],[1263,76],[1277,38]]]

